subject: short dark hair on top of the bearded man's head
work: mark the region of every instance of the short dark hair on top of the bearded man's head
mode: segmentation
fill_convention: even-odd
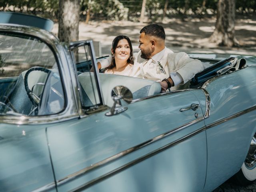
[[[155,36],[165,40],[164,28],[158,24],[147,25],[140,30],[140,33],[145,33],[145,35]]]

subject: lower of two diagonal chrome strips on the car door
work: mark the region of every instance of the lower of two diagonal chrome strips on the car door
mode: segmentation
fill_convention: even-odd
[[[129,163],[126,163],[123,166],[120,166],[119,168],[116,168],[115,170],[112,170],[112,171],[110,171],[110,172],[108,172],[108,173],[106,173],[106,174],[104,174],[104,175],[102,175],[98,178],[95,178],[95,179],[93,179],[93,180],[91,180],[91,181],[89,181],[89,182],[71,190],[70,192],[79,192],[81,190],[85,190],[86,188],[89,188],[90,186],[92,186],[92,185],[94,185],[98,182],[101,182],[101,181],[103,181],[103,180],[105,180],[105,179],[107,179],[107,178],[109,178],[109,177],[111,177],[115,174],[118,174],[119,172],[122,172],[123,170],[126,170],[126,169],[128,169],[128,168],[130,168],[130,167],[132,167],[132,166],[134,166],[134,165],[136,165],[136,164],[138,164],[138,163],[140,163],[140,162],[142,162],[142,161],[160,153],[160,152],[163,152],[163,151],[167,150],[168,148],[171,148],[171,147],[183,142],[184,140],[187,140],[188,138],[191,138],[192,136],[195,136],[196,134],[199,134],[200,132],[202,132],[204,130],[205,130],[205,127],[202,127],[202,128],[200,128],[200,129],[198,129],[198,130],[196,130],[196,131],[194,131],[194,132],[192,132],[192,133],[190,133],[186,136],[183,136],[182,138],[180,138],[178,140],[175,140],[175,141],[173,141],[169,144],[166,144],[166,145],[164,145],[164,146],[162,146],[162,147],[160,147],[160,148],[158,148],[158,149],[156,149],[156,150],[154,150],[154,151],[152,151],[152,152],[150,152],[150,153],[148,153],[144,156],[141,156],[141,157],[139,157],[139,158],[137,158],[137,159],[135,159],[135,160],[133,160]]]

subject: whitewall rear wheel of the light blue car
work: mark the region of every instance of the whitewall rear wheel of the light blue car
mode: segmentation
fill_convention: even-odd
[[[252,184],[256,180],[256,133],[241,169],[234,175],[234,180],[242,186]]]

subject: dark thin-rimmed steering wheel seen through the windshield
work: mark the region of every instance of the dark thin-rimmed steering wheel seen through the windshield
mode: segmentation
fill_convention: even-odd
[[[30,101],[32,102],[32,104],[35,105],[35,106],[38,106],[41,99],[40,99],[36,94],[33,93],[33,88],[34,88],[34,86],[36,86],[36,85],[43,85],[43,86],[44,86],[44,89],[45,89],[45,84],[44,84],[44,83],[37,83],[37,84],[34,84],[34,85],[32,86],[32,90],[30,90],[30,89],[28,88],[28,75],[29,75],[32,71],[42,71],[42,72],[47,73],[48,76],[47,76],[45,82],[47,82],[47,80],[48,80],[50,77],[52,77],[52,76],[53,76],[54,78],[56,78],[57,80],[60,80],[60,77],[59,77],[56,73],[54,73],[53,71],[51,71],[51,70],[49,70],[49,69],[46,69],[46,68],[43,68],[43,67],[32,67],[32,68],[30,68],[30,69],[26,72],[26,74],[25,74],[25,76],[24,76],[25,90],[26,90],[26,92],[27,92],[27,94],[28,94],[28,97],[30,98]],[[50,75],[50,74],[52,74],[52,75]],[[43,89],[43,92],[45,91],[44,89]],[[52,89],[52,87],[51,87],[51,89]],[[42,95],[43,95],[43,93],[42,93]]]

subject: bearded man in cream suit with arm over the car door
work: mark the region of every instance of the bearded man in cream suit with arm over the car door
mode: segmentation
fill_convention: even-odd
[[[158,24],[150,24],[140,30],[140,51],[134,54],[130,76],[160,82],[162,92],[168,88],[188,88],[189,81],[204,69],[203,65],[200,60],[191,59],[184,52],[172,52],[166,48],[164,40],[164,28]],[[101,68],[108,65],[102,62]]]

